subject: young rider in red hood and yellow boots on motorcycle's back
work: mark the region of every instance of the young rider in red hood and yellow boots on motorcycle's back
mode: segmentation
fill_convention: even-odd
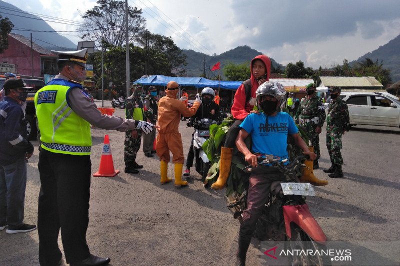
[[[221,149],[221,159],[219,162],[219,176],[212,189],[223,189],[225,187],[226,179],[230,172],[230,163],[232,161],[232,151],[235,145],[237,134],[240,131],[239,125],[250,113],[257,112],[254,109],[256,105],[255,91],[258,85],[269,80],[269,73],[271,69],[271,61],[269,57],[260,54],[255,56],[250,62],[251,76],[244,81],[236,90],[234,101],[231,107],[231,113],[236,120],[229,128],[226,136],[225,144]]]

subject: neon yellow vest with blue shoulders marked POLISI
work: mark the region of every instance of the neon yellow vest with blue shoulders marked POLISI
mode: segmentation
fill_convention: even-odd
[[[34,95],[41,147],[47,151],[71,155],[89,155],[90,124],[68,105],[68,91],[82,89],[79,83],[53,79]]]

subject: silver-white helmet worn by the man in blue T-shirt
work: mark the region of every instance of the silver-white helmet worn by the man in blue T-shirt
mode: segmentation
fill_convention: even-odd
[[[257,90],[255,91],[255,97],[257,99],[257,107],[259,110],[260,103],[261,103],[261,96],[269,95],[275,97],[277,100],[276,104],[276,111],[279,112],[286,101],[286,90],[284,89],[283,85],[278,82],[271,82],[265,81],[261,85],[258,86]]]

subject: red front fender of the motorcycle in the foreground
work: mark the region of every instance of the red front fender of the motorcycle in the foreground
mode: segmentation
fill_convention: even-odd
[[[285,205],[282,208],[286,234],[289,238],[291,238],[290,223],[294,223],[307,233],[313,241],[322,245],[325,244],[326,236],[309,212],[307,204]]]

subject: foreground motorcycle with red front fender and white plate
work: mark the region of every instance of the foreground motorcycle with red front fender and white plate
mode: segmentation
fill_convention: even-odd
[[[259,157],[258,165],[271,164],[285,176],[285,181],[273,181],[270,193],[261,215],[257,221],[253,237],[260,241],[284,241],[285,248],[293,250],[320,250],[326,249],[326,236],[312,217],[305,202],[305,196],[315,196],[312,186],[301,183],[296,171],[305,167],[299,160],[305,158],[297,156],[290,164],[284,165],[287,159],[279,162],[272,155]],[[251,165],[242,168],[247,170]],[[242,222],[243,211],[247,208],[247,193],[241,195],[232,193],[225,196],[227,207],[233,214],[233,218]],[[307,256],[308,255],[308,256]],[[292,265],[330,265],[326,256],[313,254],[293,254],[289,256]]]

